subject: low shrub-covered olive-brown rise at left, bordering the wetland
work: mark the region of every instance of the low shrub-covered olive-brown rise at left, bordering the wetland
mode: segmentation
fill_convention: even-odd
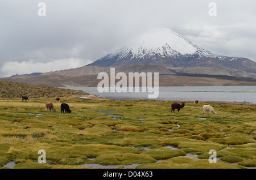
[[[23,84],[17,82],[0,81],[0,97],[16,98],[27,96],[28,98],[38,97],[68,97],[72,95],[88,95],[83,91],[72,89],[54,88],[43,85]]]

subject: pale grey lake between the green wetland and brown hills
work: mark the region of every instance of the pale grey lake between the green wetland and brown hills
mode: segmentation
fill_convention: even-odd
[[[148,92],[103,92],[97,87],[68,87],[115,100],[164,100],[164,101],[228,101],[256,104],[256,86],[184,86],[159,87],[159,96],[148,99]]]

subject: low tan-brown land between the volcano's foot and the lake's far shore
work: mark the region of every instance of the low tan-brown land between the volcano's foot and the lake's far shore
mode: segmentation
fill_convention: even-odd
[[[115,72],[118,72],[115,71]],[[10,82],[22,82],[36,85],[47,85],[49,87],[97,87],[101,79],[97,75],[39,75],[15,78],[0,78]],[[117,83],[118,80],[115,81]],[[180,72],[175,74],[159,75],[159,86],[195,86],[195,85],[256,85],[256,79],[235,78],[222,75],[186,74]]]

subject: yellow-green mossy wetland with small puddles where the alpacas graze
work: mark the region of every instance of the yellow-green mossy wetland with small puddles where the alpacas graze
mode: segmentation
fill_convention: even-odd
[[[179,113],[171,113],[171,101],[63,97],[72,110],[63,114],[60,103],[54,103],[57,112],[46,112],[49,101],[53,102],[52,98],[0,100],[0,167],[8,162],[21,169],[88,168],[86,164],[216,169],[256,166],[254,105],[212,103],[217,115],[209,115],[192,103],[186,103]],[[37,162],[39,149],[46,151],[46,164]],[[220,157],[216,164],[208,162],[210,149]],[[191,154],[196,156],[189,157]]]

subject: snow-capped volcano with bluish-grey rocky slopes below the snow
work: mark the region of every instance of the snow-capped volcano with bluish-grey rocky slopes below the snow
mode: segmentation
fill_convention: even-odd
[[[136,64],[177,67],[233,68],[256,73],[256,63],[247,58],[210,53],[170,29],[152,29],[131,44],[87,66],[117,67]]]

